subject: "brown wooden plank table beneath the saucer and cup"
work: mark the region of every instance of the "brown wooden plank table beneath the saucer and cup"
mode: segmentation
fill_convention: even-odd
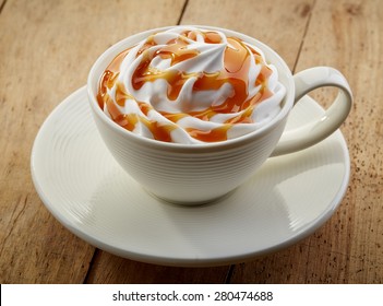
[[[1,0],[1,283],[382,283],[383,1]],[[37,196],[29,170],[45,118],[86,82],[108,46],[143,30],[217,25],[265,42],[290,69],[332,66],[355,105],[342,131],[351,179],[313,235],[251,262],[169,268],[119,258],[65,229]],[[314,96],[323,105],[328,91]],[[327,98],[328,99],[328,98]]]

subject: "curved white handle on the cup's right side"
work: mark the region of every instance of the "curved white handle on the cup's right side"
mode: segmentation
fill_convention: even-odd
[[[347,118],[352,93],[345,76],[331,67],[314,67],[294,75],[296,84],[295,105],[309,92],[324,86],[338,87],[338,94],[324,115],[308,125],[283,133],[271,156],[307,149],[335,132]]]

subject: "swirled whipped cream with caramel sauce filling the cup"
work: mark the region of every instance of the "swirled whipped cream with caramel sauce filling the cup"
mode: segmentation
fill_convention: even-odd
[[[238,138],[271,121],[285,87],[262,51],[218,31],[176,26],[119,54],[98,104],[121,127],[159,141]]]

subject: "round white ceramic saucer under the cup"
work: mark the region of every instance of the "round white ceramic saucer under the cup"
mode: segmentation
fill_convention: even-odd
[[[295,128],[322,108],[303,97]],[[147,195],[101,141],[82,87],[41,126],[32,175],[48,210],[89,244],[133,260],[218,266],[253,259],[313,233],[346,192],[350,162],[340,131],[302,152],[270,158],[219,202],[180,207]]]

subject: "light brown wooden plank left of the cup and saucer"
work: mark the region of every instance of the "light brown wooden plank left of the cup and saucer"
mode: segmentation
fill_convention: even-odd
[[[7,1],[0,14],[0,283],[84,281],[94,248],[38,199],[29,174],[34,138],[48,114],[85,84],[103,50],[175,24],[182,7],[183,0]]]

